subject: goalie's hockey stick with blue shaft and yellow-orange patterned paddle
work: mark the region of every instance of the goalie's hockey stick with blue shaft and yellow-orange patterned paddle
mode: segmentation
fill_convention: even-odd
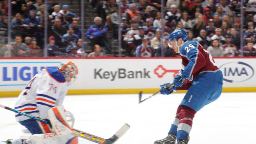
[[[38,121],[41,121],[43,123],[47,123],[47,124],[50,124],[48,120],[46,119],[40,119],[40,118],[37,118],[37,117],[34,117],[30,114],[26,114],[25,112],[20,112],[18,110],[14,110],[10,107],[6,107],[4,105],[0,105],[0,107],[4,108],[4,109],[7,109],[7,110],[10,110],[10,111],[13,111],[13,112],[17,112],[18,114],[22,114],[26,117],[30,117],[32,119],[36,119]],[[75,128],[73,128],[73,133],[72,135],[75,135],[75,136],[78,136],[78,137],[82,137],[83,139],[87,139],[91,142],[95,142],[97,144],[113,144],[114,142],[116,142],[120,137],[123,136],[123,134],[126,133],[126,131],[130,128],[130,126],[125,123],[118,131],[117,133],[115,133],[112,137],[110,137],[109,139],[104,139],[102,137],[98,137],[96,135],[92,135],[92,134],[89,134],[89,133],[86,133],[86,132],[83,132],[81,130],[77,130]]]

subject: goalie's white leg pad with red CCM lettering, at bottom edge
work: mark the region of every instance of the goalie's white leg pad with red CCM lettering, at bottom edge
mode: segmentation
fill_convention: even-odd
[[[78,137],[73,135],[59,136],[57,133],[35,134],[31,137],[32,144],[78,144]]]

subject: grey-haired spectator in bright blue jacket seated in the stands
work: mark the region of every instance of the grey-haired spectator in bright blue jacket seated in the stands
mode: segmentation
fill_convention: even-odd
[[[86,33],[87,39],[91,40],[92,46],[98,44],[100,46],[107,46],[109,50],[111,50],[110,43],[108,43],[108,39],[106,37],[107,28],[101,24],[102,23],[101,18],[95,17],[94,23],[95,24],[91,25],[87,30],[87,33]]]

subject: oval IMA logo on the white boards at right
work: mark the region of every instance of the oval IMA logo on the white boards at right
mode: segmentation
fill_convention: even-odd
[[[244,62],[229,62],[219,67],[226,82],[244,82],[254,76],[254,69]]]

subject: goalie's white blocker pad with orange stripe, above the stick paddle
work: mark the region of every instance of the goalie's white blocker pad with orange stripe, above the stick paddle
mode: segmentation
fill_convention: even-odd
[[[72,128],[69,126],[64,114],[64,106],[58,105],[48,110],[48,118],[53,127],[53,132],[58,136],[69,135],[72,133]]]

